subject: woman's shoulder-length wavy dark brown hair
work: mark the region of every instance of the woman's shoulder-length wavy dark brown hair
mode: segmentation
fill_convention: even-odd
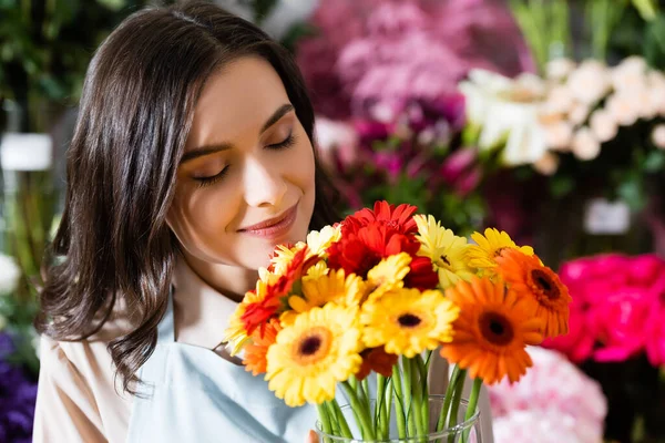
[[[273,65],[314,145],[314,111],[290,54],[213,4],[140,11],[90,63],[35,327],[54,340],[83,340],[124,299],[137,324],[109,351],[126,392],[136,392],[137,370],[155,349],[167,306],[177,244],[166,213],[197,97],[213,72],[245,55]],[[318,161],[315,182],[310,228],[319,229],[338,217]]]

